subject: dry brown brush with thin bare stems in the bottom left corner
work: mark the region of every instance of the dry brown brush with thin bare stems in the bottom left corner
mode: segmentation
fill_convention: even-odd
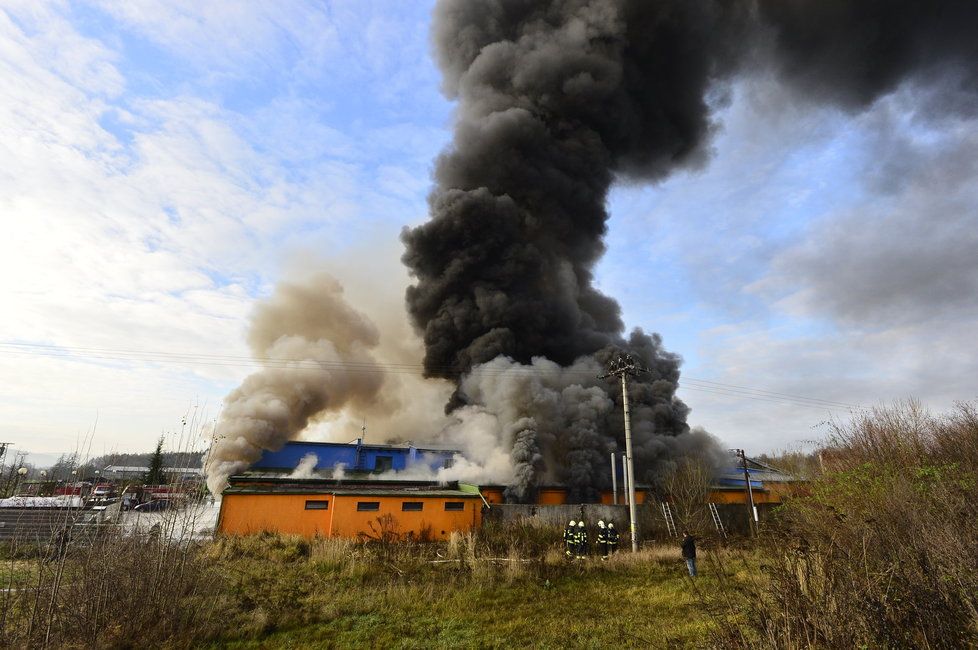
[[[4,594],[4,647],[184,645],[216,629],[209,613],[221,576],[197,543],[76,526],[30,566],[32,575],[11,580]]]

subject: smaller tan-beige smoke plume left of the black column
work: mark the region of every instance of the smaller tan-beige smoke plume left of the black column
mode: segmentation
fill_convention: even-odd
[[[372,354],[377,328],[325,274],[283,282],[258,303],[248,343],[265,367],[224,400],[205,461],[213,494],[262,450],[280,448],[316,417],[344,407],[368,412],[383,384]]]

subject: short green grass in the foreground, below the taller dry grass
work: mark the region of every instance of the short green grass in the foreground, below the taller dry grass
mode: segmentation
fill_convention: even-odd
[[[313,561],[313,564],[315,562]],[[452,570],[351,585],[324,581],[299,596],[302,622],[212,648],[704,647],[717,598],[709,569],[695,587],[676,557],[552,566],[551,577],[453,579]]]

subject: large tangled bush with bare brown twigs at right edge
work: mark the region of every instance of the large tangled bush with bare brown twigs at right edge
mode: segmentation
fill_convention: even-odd
[[[826,451],[828,471],[766,539],[750,610],[763,645],[978,645],[975,406],[879,409]]]

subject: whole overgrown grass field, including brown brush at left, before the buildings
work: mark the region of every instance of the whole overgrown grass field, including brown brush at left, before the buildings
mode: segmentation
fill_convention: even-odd
[[[109,536],[56,562],[0,562],[0,634],[24,648],[710,647],[733,622],[725,594],[756,576],[723,551],[710,555],[726,572],[703,558],[693,581],[675,545],[569,561],[559,535],[261,534],[182,551]]]

